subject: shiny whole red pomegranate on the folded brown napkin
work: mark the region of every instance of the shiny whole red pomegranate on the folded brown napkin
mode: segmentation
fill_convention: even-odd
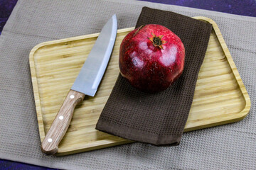
[[[119,69],[132,86],[147,92],[163,91],[183,72],[184,45],[171,30],[149,24],[124,37]]]

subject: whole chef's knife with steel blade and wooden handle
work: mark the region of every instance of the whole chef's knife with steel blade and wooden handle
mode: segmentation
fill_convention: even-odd
[[[116,35],[117,16],[114,15],[102,28],[85,64],[75,79],[75,83],[53,120],[50,130],[41,144],[41,150],[44,153],[55,154],[58,152],[58,145],[68,130],[75,106],[85,98],[85,95],[95,96],[110,60]]]

